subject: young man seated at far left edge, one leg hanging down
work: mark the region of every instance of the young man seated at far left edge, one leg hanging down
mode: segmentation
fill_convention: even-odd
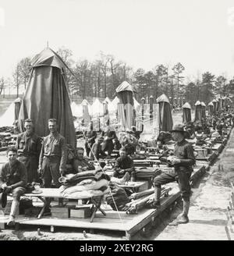
[[[13,225],[19,211],[20,197],[26,191],[27,170],[23,163],[17,160],[16,148],[9,147],[6,155],[8,162],[0,169],[0,192],[12,194],[13,201],[7,225]]]

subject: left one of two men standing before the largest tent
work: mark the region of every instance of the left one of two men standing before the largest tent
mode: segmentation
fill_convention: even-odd
[[[24,121],[25,132],[20,133],[16,140],[18,160],[27,169],[27,182],[38,182],[37,167],[41,152],[41,137],[34,133],[31,119]]]

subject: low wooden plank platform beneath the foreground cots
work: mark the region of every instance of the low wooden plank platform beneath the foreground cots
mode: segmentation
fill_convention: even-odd
[[[206,171],[208,165],[199,163],[195,168],[191,176],[191,183],[195,182],[200,178],[200,176]],[[101,212],[97,212],[93,222],[90,219],[57,219],[52,217],[43,217],[42,219],[37,219],[35,217],[24,217],[20,215],[16,219],[16,228],[19,229],[23,225],[33,225],[33,226],[49,226],[51,232],[55,232],[55,227],[69,227],[69,228],[79,228],[86,229],[90,233],[96,230],[113,232],[120,232],[125,234],[126,239],[130,240],[131,237],[138,231],[144,229],[144,227],[154,221],[154,219],[161,214],[165,209],[171,208],[172,205],[180,198],[178,184],[168,183],[166,187],[172,187],[169,191],[168,197],[161,198],[161,208],[159,210],[155,209],[142,209],[138,214],[127,215],[126,212],[115,212],[109,209],[108,205],[102,205],[106,212],[106,216],[102,215]],[[120,216],[119,216],[120,215]],[[7,219],[0,218],[0,225],[4,226]],[[3,228],[3,227],[2,227]]]

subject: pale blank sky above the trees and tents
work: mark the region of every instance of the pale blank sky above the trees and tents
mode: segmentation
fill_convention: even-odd
[[[47,45],[75,60],[115,55],[146,71],[181,62],[186,76],[234,76],[231,0],[0,0],[0,77]]]

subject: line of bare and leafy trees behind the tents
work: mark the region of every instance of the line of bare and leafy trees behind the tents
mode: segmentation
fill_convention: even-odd
[[[174,66],[159,64],[149,71],[141,68],[133,71],[126,62],[104,52],[100,52],[93,62],[87,59],[75,61],[73,52],[68,48],[59,48],[57,53],[68,67],[66,84],[70,97],[114,98],[116,87],[125,80],[136,87],[138,101],[143,98],[147,101],[151,95],[155,101],[164,93],[175,107],[185,101],[191,105],[197,100],[207,104],[217,94],[229,96],[234,91],[234,78],[227,80],[225,76],[215,76],[207,71],[190,79],[183,76],[186,68],[180,62]],[[20,87],[27,87],[30,69],[30,58],[21,59],[11,78],[0,78],[0,94],[7,87],[16,87],[18,97]]]

